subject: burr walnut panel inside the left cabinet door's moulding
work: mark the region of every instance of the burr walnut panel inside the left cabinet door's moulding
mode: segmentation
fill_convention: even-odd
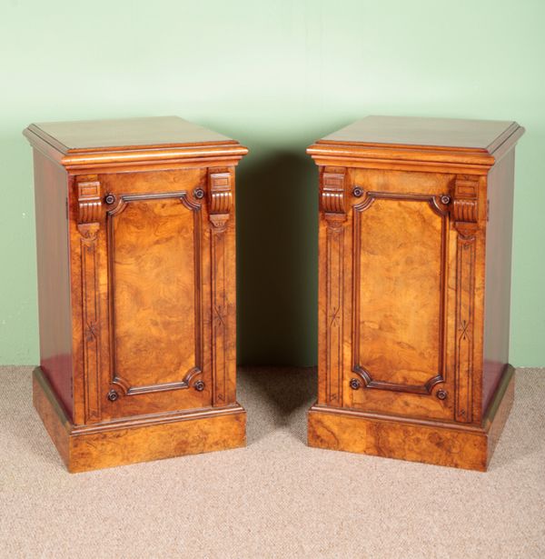
[[[200,367],[195,215],[159,198],[112,216],[114,372],[130,391],[181,383]]]

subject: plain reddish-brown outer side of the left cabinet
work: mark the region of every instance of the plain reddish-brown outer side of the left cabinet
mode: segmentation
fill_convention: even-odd
[[[72,401],[72,328],[67,175],[34,150],[40,365],[69,417]]]

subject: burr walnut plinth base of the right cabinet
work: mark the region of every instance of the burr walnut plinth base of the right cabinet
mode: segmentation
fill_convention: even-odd
[[[514,386],[514,369],[507,365],[482,426],[371,414],[315,404],[308,412],[308,444],[485,472],[507,421]]]

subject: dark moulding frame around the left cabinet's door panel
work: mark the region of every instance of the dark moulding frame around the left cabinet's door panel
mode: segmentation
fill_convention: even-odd
[[[146,385],[132,385],[117,371],[115,364],[115,328],[114,328],[114,259],[115,259],[115,239],[114,239],[114,225],[113,218],[121,215],[128,205],[149,201],[178,198],[180,202],[190,211],[193,212],[193,250],[194,250],[194,355],[195,363],[185,374],[183,378],[169,383],[160,384],[146,384]],[[109,301],[110,301],[110,355],[111,355],[111,371],[113,377],[111,384],[115,387],[121,388],[121,393],[124,395],[134,394],[148,394],[154,392],[163,392],[165,390],[177,390],[182,388],[189,388],[193,378],[202,374],[203,372],[203,321],[202,321],[202,252],[201,252],[201,208],[202,206],[192,198],[189,197],[185,191],[180,192],[167,192],[167,193],[146,193],[142,195],[120,195],[114,200],[115,205],[107,211],[107,231],[108,231],[108,277],[109,277]]]

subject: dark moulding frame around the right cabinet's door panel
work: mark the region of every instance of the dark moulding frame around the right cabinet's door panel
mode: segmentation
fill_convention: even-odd
[[[445,316],[445,291],[446,291],[446,269],[447,269],[447,215],[448,210],[446,205],[450,202],[445,196],[435,195],[413,195],[413,194],[398,194],[389,192],[364,192],[365,197],[359,205],[353,206],[353,253],[352,253],[352,274],[353,274],[353,294],[352,294],[352,371],[359,374],[362,378],[363,385],[366,388],[376,388],[380,390],[391,390],[394,392],[405,392],[411,394],[431,394],[433,387],[436,384],[444,383],[446,380],[445,362],[445,333],[444,333],[444,316]],[[359,196],[358,196],[359,197]],[[360,283],[361,283],[361,251],[362,251],[362,237],[361,237],[361,219],[362,213],[368,210],[372,204],[378,200],[399,200],[422,202],[428,204],[431,210],[439,215],[442,220],[441,225],[441,300],[439,302],[439,368],[437,374],[431,376],[430,379],[424,384],[397,384],[389,383],[372,378],[372,372],[367,370],[361,364],[360,355]]]

